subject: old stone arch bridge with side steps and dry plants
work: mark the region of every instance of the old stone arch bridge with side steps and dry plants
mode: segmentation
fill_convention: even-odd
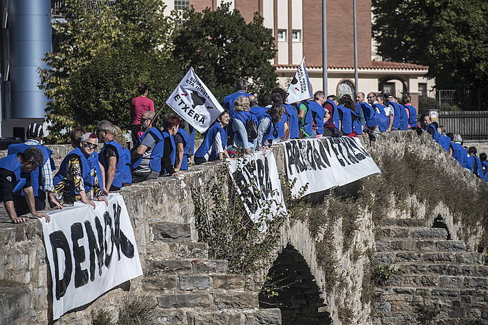
[[[93,311],[116,315],[124,299],[142,296],[160,324],[488,324],[486,184],[427,134],[361,141],[383,173],[316,193],[291,211],[268,268],[254,277],[284,283],[277,296],[244,290],[245,278],[227,274],[227,262],[208,259],[207,244],[197,242],[191,189],[226,173],[208,163],[120,191],[144,276],[58,322],[91,324]],[[66,150],[55,146],[58,161]],[[273,151],[284,177],[282,146]],[[40,223],[1,221],[0,324],[52,322]]]

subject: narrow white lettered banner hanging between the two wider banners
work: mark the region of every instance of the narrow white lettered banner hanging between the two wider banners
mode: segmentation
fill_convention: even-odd
[[[241,193],[245,209],[254,223],[264,221],[263,209],[270,214],[286,214],[280,177],[273,151],[254,152],[242,159],[231,159],[231,176]],[[261,218],[260,218],[261,217]]]

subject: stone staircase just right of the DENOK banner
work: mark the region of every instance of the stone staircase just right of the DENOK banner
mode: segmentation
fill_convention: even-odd
[[[158,309],[158,324],[281,324],[279,309],[259,309],[259,292],[227,274],[227,261],[208,259],[191,240],[190,224],[155,222],[147,246],[143,290]]]

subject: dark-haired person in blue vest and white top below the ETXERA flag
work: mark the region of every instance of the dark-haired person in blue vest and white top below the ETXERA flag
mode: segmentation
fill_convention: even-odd
[[[224,158],[229,158],[229,153],[225,149],[227,147],[225,129],[229,125],[229,120],[229,112],[223,111],[213,125],[207,129],[204,141],[195,152],[195,164],[199,165],[214,160],[224,161]]]

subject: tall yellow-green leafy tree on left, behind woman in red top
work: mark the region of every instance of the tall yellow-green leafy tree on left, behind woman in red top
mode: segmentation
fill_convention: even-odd
[[[66,129],[93,129],[102,119],[128,129],[139,82],[149,85],[149,97],[162,109],[179,77],[171,64],[173,24],[162,1],[64,3],[65,19],[54,24],[62,41],[46,55],[51,68],[41,72],[50,141],[66,141]]]

